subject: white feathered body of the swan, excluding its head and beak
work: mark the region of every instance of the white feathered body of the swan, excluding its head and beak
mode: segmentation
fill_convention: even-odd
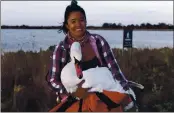
[[[73,71],[72,71],[73,70]],[[119,81],[114,80],[111,72],[106,67],[96,67],[83,71],[83,78],[79,79],[76,75],[75,67],[72,62],[68,63],[62,70],[61,80],[65,86],[67,92],[76,92],[79,84],[82,80],[85,82],[82,88],[91,88],[89,92],[102,92],[103,90],[116,91],[120,93],[132,94],[135,98],[134,92],[129,89],[125,91]]]

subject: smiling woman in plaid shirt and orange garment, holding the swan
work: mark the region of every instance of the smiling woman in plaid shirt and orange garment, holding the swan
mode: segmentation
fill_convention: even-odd
[[[77,95],[72,96],[72,94],[69,94],[69,91],[67,91],[65,89],[65,86],[62,84],[61,78],[63,78],[63,76],[60,77],[60,74],[63,68],[65,68],[65,65],[67,65],[70,60],[74,60],[70,54],[70,50],[72,49],[71,46],[74,42],[79,42],[80,43],[79,46],[81,46],[81,53],[82,53],[81,54],[82,58],[80,58],[81,65],[75,66],[76,69],[74,68],[74,70],[72,70],[72,72],[69,72],[69,74],[72,74],[74,71],[76,71],[78,76],[79,72],[90,68],[106,67],[111,72],[111,77],[114,79],[113,81],[115,82],[117,81],[118,84],[120,84],[120,86],[124,90],[129,89],[128,80],[124,77],[123,73],[121,72],[108,42],[98,34],[89,33],[86,30],[86,23],[87,20],[85,11],[83,10],[83,8],[77,5],[76,1],[73,0],[71,5],[67,6],[65,10],[64,22],[62,25],[62,29],[60,29],[60,31],[63,31],[64,34],[66,35],[65,39],[55,47],[51,59],[49,73],[47,75],[47,82],[55,90],[55,92],[57,92],[58,98],[61,101],[61,103],[59,104],[60,108],[56,111],[76,111],[77,110],[76,105],[79,105],[78,103],[86,105],[85,109],[83,109],[82,107],[83,109],[83,110],[81,109],[82,111],[112,111],[111,108],[115,107],[117,108],[117,110],[115,111],[123,111],[125,107],[127,106],[130,107],[129,104],[133,103],[132,99],[129,97],[128,94],[105,91],[99,95],[98,93],[94,92],[92,94],[90,93],[89,96],[84,96],[86,94],[88,95],[87,92],[88,90],[86,90],[86,88],[82,88],[81,85],[77,85],[78,88],[75,93]],[[78,79],[81,78],[80,76],[78,77],[79,77]],[[71,78],[68,79],[70,81],[74,81],[74,79]],[[95,82],[95,80],[93,81]],[[120,98],[114,100],[113,96]],[[79,101],[74,97],[79,97],[81,100],[84,99],[84,101],[83,102],[81,100]],[[107,103],[108,101],[105,103],[104,98],[106,100],[109,100],[110,103],[108,104]],[[104,100],[103,102],[100,101],[98,103],[98,100],[100,99]],[[89,103],[91,102],[94,105],[88,106]],[[119,106],[117,106],[117,104]],[[71,105],[74,105],[75,107],[74,108],[72,107],[71,109],[70,107]],[[107,106],[108,108],[106,107],[103,109],[99,109],[103,105]],[[65,109],[64,106],[68,107]],[[68,110],[69,107],[71,110]]]

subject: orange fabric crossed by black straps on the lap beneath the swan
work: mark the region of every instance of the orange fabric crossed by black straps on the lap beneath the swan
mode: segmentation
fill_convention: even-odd
[[[106,91],[104,90],[102,92],[105,94],[109,99],[111,99],[113,102],[120,104],[120,106],[112,109],[108,109],[107,105],[100,100],[100,98],[95,93],[90,93],[86,98],[83,99],[82,102],[82,112],[123,112],[123,108],[127,106],[132,100],[127,94],[114,92],[114,91]],[[64,102],[58,104],[56,107],[54,107],[50,112],[55,112],[57,109],[61,107],[61,105]],[[79,104],[80,101],[74,102],[68,109],[66,109],[66,112],[77,112],[79,110]]]

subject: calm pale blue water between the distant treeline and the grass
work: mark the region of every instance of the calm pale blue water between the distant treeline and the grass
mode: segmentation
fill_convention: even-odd
[[[89,30],[103,36],[112,48],[122,48],[123,30]],[[59,44],[64,39],[58,30],[46,29],[2,29],[1,48],[3,51],[39,51]],[[137,48],[173,47],[173,31],[133,31],[133,46]]]

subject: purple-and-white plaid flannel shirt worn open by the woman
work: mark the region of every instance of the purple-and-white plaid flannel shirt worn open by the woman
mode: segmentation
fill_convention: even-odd
[[[100,35],[90,34],[89,32],[87,33],[88,38],[94,42],[93,46],[96,46],[97,48],[99,60],[102,65],[108,67],[112,72],[113,77],[119,80],[121,85],[124,87],[127,84],[127,80],[121,72],[108,42]],[[63,67],[70,61],[69,50],[71,44],[68,43],[67,40],[68,36],[66,36],[64,41],[61,41],[59,45],[55,47],[51,58],[49,73],[46,77],[47,82],[50,84],[52,89],[59,93],[66,93],[60,80],[60,74]]]

